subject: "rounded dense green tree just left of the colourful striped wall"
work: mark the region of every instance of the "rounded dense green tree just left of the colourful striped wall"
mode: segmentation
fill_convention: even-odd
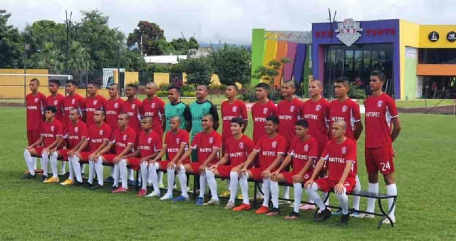
[[[223,85],[250,82],[250,52],[244,47],[224,44],[211,55],[214,70]]]

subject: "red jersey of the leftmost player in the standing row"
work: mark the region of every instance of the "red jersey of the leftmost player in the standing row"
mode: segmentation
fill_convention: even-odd
[[[27,130],[39,131],[44,122],[44,108],[46,108],[46,96],[41,92],[36,95],[30,93],[26,95],[27,107]]]

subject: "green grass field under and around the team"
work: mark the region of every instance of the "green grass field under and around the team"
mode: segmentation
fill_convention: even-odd
[[[284,220],[289,208],[269,218],[224,210],[224,203],[199,207],[137,198],[133,191],[114,195],[108,188],[88,191],[21,180],[26,169],[24,113],[24,108],[0,107],[0,240],[456,240],[452,116],[400,116],[403,132],[395,142],[398,223],[377,230],[378,218],[351,219],[348,227],[337,227],[339,217],[313,223],[311,213]],[[358,148],[359,176],[366,189],[363,156]],[[385,192],[383,183],[380,191]],[[366,208],[366,200],[361,207]]]

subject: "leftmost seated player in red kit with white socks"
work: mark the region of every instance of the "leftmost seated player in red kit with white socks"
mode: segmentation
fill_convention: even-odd
[[[31,156],[41,156],[43,161],[43,182],[58,183],[57,173],[57,156],[53,154],[58,149],[59,143],[63,138],[63,126],[56,119],[57,109],[50,106],[44,109],[44,117],[46,122],[41,125],[41,137],[35,143],[26,147],[24,151],[24,159],[28,167],[28,175],[26,178],[35,178],[35,168],[33,167],[33,159]],[[51,155],[52,154],[52,155]],[[48,178],[48,165],[51,155],[52,178]]]

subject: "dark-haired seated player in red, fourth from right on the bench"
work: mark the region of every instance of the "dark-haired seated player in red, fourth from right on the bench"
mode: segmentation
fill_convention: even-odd
[[[234,201],[236,199],[237,186],[239,184],[237,173],[244,166],[244,162],[247,160],[247,156],[254,149],[254,142],[248,136],[243,134],[245,119],[243,117],[234,117],[230,120],[231,122],[231,133],[226,144],[222,159],[214,164],[214,166],[206,169],[207,185],[212,194],[211,200],[204,203],[204,205],[219,205],[219,197],[217,195],[217,181],[215,176],[222,178],[230,178],[229,183],[229,201],[225,209],[234,208]]]

